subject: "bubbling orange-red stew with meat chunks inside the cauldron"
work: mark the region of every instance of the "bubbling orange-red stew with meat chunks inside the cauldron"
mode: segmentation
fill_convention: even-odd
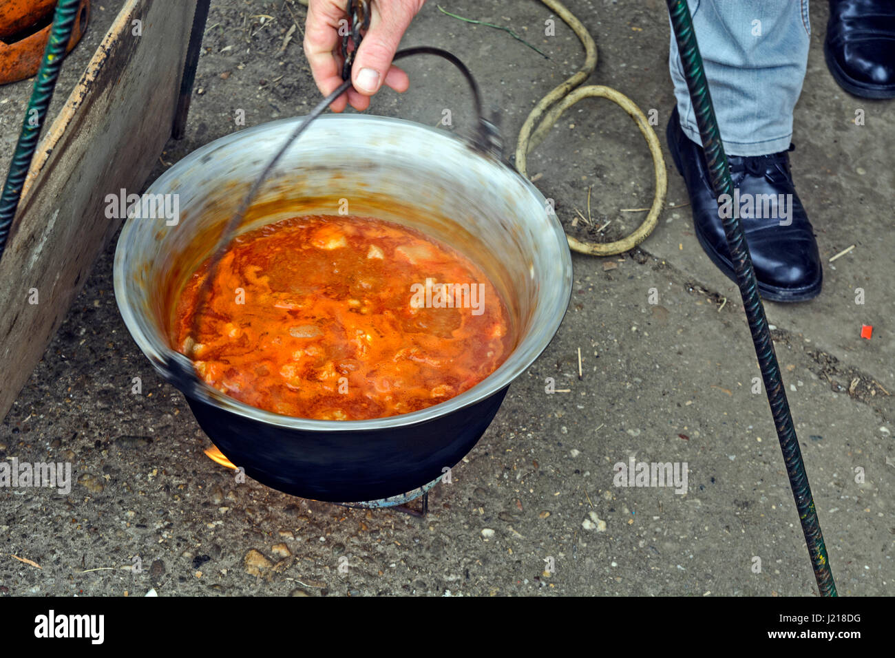
[[[482,270],[406,226],[320,215],[263,226],[234,239],[201,303],[209,261],[177,300],[175,345],[211,386],[277,414],[418,411],[472,388],[515,345]]]

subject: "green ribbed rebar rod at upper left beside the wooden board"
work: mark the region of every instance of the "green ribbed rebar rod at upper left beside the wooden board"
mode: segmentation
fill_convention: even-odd
[[[13,226],[15,212],[19,208],[22,185],[31,167],[31,158],[38,148],[38,138],[47,118],[47,108],[53,98],[59,70],[65,59],[65,47],[72,38],[75,19],[81,8],[81,0],[59,0],[53,16],[53,27],[47,40],[47,49],[34,81],[34,90],[25,110],[19,141],[15,145],[13,161],[6,175],[3,195],[0,196],[0,258],[6,249],[6,240]],[[37,110],[35,115],[34,110]]]

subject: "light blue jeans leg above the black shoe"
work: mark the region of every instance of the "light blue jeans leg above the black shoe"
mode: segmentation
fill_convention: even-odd
[[[687,0],[724,150],[761,156],[789,148],[808,62],[808,0]],[[669,70],[681,128],[702,144],[671,35]]]

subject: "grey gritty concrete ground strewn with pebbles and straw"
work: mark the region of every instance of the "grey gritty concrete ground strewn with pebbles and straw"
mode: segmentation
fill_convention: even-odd
[[[119,4],[106,2],[105,16]],[[664,4],[568,5],[600,48],[591,82],[657,109],[663,133],[673,98]],[[550,56],[434,3],[406,35],[407,46],[447,47],[471,67],[512,146],[533,103],[575,72],[582,49],[561,21],[556,36],[541,36],[550,13],[538,2],[443,6],[512,25]],[[884,158],[895,147],[895,104],[850,98],[835,85],[823,64],[826,6],[812,11],[792,159],[825,288],[812,303],[767,310],[840,593],[887,594],[895,579],[895,343],[887,326],[895,284],[891,237],[874,231],[890,215]],[[151,179],[238,129],[236,109],[254,125],[317,102],[301,33],[281,49],[304,12],[283,0],[214,0],[188,134],[168,143]],[[95,47],[103,15],[94,10],[76,56]],[[67,80],[82,66],[72,58]],[[470,108],[456,92],[459,77],[431,58],[406,68],[411,90],[383,92],[371,112],[434,125],[450,108],[463,132]],[[21,88],[2,90],[19,94],[0,123],[6,154],[28,94]],[[853,122],[857,108],[864,126]],[[686,191],[668,165],[669,201],[683,204]],[[569,110],[528,168],[571,231],[593,234],[571,227],[592,186],[594,223],[613,220],[604,240],[643,217],[618,209],[652,199],[644,141],[605,101]],[[452,483],[432,492],[424,519],[236,483],[205,457],[209,440],[183,397],[151,370],[117,312],[114,246],[0,425],[0,460],[72,464],[67,494],[0,489],[2,594],[816,594],[771,414],[751,392],[758,370],[736,287],[704,256],[686,207],[667,209],[635,252],[574,256],[574,294],[557,338],[516,380]],[[869,341],[862,324],[874,326]],[[142,392],[133,395],[138,376]],[[548,395],[550,377],[569,392]],[[632,458],[686,463],[686,493],[615,486],[613,465]]]

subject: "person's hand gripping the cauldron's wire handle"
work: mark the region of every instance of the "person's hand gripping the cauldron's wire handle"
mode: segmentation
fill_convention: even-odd
[[[344,110],[346,103],[351,103],[356,110],[365,110],[370,107],[370,97],[383,83],[396,91],[407,90],[410,85],[407,74],[391,61],[401,37],[423,2],[425,0],[371,0],[370,29],[363,35],[352,66],[354,89],[348,90],[347,99],[343,94],[329,106],[334,112]],[[338,27],[339,21],[346,18],[347,4],[347,0],[309,1],[304,54],[324,96],[342,84],[341,57],[337,57],[342,38]]]

